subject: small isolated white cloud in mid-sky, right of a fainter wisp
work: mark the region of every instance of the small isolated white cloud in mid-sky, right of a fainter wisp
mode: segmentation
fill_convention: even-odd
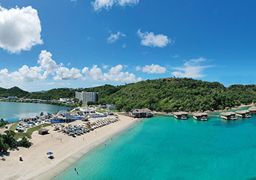
[[[138,37],[141,38],[141,45],[163,48],[167,44],[174,42],[166,35],[154,35],[154,32],[141,32],[138,30]]]

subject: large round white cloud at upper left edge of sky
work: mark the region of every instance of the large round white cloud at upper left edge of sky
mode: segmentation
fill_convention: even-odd
[[[43,44],[37,10],[31,6],[5,9],[0,6],[0,47],[10,53]]]

